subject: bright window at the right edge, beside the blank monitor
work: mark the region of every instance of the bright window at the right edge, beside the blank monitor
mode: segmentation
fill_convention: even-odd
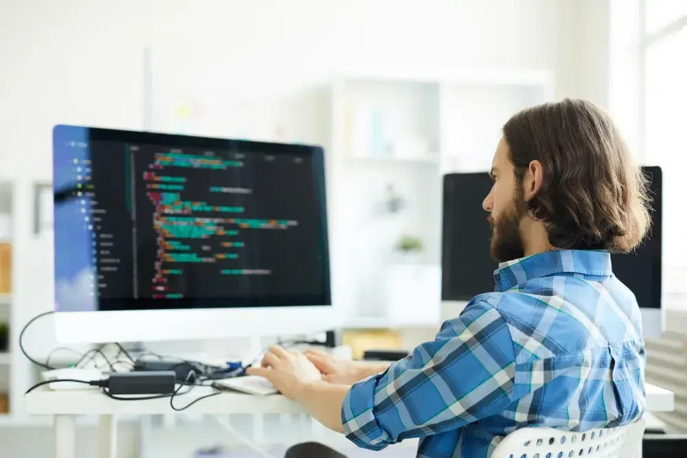
[[[640,157],[663,170],[664,304],[670,307],[671,299],[687,295],[687,0],[640,5]]]

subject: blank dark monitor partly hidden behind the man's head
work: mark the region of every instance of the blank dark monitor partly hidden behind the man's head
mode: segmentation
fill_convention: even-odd
[[[637,298],[644,336],[660,336],[662,263],[662,173],[643,167],[651,194],[652,227],[633,253],[611,255],[613,273]],[[461,310],[475,295],[494,290],[491,227],[482,201],[491,190],[486,172],[444,176],[442,231],[442,301]]]

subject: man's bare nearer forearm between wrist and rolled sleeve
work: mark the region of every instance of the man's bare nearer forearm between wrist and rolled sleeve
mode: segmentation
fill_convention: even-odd
[[[341,406],[350,389],[347,385],[332,385],[317,381],[305,385],[296,400],[305,407],[315,420],[337,433],[343,433]]]

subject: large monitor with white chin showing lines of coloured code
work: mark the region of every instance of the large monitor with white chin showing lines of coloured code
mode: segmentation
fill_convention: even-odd
[[[58,341],[336,325],[317,146],[54,128]]]

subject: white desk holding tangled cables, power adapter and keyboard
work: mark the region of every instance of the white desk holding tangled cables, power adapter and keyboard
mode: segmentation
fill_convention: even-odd
[[[210,387],[195,387],[190,393],[174,397],[174,407],[211,393]],[[54,415],[55,458],[76,458],[76,415],[99,415],[98,458],[116,458],[117,424],[115,415],[157,415],[174,413],[169,398],[144,401],[117,401],[98,389],[53,391],[41,387],[25,396],[27,412]],[[674,409],[673,392],[646,385],[646,410],[668,412]],[[230,413],[304,413],[296,402],[281,395],[251,396],[221,393],[196,402],[184,413],[222,415]]]

